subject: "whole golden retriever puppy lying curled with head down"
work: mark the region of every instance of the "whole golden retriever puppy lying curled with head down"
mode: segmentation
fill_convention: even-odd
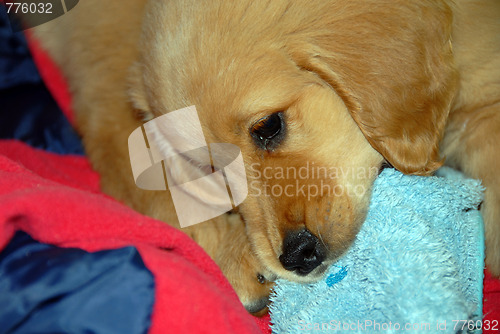
[[[499,35],[497,0],[85,0],[36,29],[110,195],[179,227],[127,147],[169,111],[195,105],[208,143],[241,149],[246,200],[184,230],[250,312],[276,277],[317,280],[345,252],[385,162],[481,179],[500,274]]]

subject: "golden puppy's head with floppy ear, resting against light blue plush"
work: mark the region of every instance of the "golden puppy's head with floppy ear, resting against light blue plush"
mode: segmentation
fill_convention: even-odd
[[[317,279],[355,238],[384,159],[423,175],[441,164],[455,82],[449,8],[199,7],[151,1],[131,95],[153,115],[196,105],[207,142],[237,145],[255,253],[271,275]]]

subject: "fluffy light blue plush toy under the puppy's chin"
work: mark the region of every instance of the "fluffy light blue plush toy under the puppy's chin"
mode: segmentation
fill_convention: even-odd
[[[480,332],[483,189],[440,173],[384,170],[356,241],[325,278],[277,282],[273,333]]]

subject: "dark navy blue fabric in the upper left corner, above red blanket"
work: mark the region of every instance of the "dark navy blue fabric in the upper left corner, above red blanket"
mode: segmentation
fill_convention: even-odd
[[[21,32],[0,4],[0,139],[56,153],[83,154],[80,138],[45,87]]]

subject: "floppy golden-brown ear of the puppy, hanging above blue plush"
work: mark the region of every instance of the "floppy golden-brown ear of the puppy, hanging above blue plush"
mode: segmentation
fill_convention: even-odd
[[[289,53],[339,94],[370,144],[398,170],[439,168],[454,95],[450,8],[439,1],[340,1]],[[337,3],[337,2],[336,2]]]

